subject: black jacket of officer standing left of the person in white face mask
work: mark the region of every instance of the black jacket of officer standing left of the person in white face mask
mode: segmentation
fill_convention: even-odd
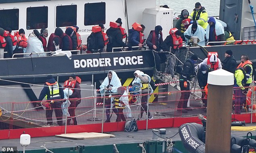
[[[187,59],[183,65],[183,70],[181,71],[180,79],[183,79],[184,81],[191,81],[193,75],[195,75],[195,65],[191,59]]]

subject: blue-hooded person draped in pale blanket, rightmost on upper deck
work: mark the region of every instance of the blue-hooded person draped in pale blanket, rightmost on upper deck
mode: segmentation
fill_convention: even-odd
[[[206,27],[206,41],[207,42],[220,42],[225,41],[224,27],[222,24],[210,17],[208,20],[209,25]],[[210,45],[221,45],[220,43],[213,43]]]

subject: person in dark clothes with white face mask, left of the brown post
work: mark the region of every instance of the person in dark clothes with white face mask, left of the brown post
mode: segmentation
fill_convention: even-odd
[[[198,84],[202,92],[201,99],[204,103],[204,107],[207,107],[207,97],[204,89],[205,89],[205,86],[207,85],[208,73],[210,71],[213,71],[213,69],[208,67],[206,64],[202,64],[197,74]]]

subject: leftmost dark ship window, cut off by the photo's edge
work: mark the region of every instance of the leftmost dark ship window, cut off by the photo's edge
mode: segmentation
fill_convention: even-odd
[[[19,9],[0,10],[0,27],[12,30],[19,29]]]

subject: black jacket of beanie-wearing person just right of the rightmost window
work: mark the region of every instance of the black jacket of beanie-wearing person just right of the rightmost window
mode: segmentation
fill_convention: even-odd
[[[128,45],[123,42],[123,36],[119,28],[110,27],[107,29],[106,34],[109,37],[107,52],[112,52],[112,48],[114,47],[128,47]],[[121,49],[114,51],[121,51]]]

